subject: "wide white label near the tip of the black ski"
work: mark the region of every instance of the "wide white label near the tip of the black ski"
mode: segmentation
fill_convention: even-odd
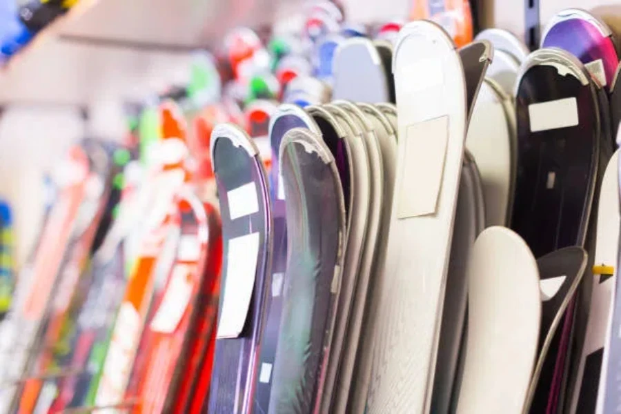
[[[575,98],[557,99],[529,105],[531,132],[578,125],[578,102]]]

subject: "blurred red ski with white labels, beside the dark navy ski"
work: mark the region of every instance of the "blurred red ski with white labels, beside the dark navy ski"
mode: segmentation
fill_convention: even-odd
[[[221,266],[221,238],[213,207],[202,204],[189,192],[175,199],[180,235],[175,264],[170,269],[163,299],[146,326],[150,343],[141,350],[148,365],[137,390],[138,403],[132,413],[172,412],[182,375],[190,366],[193,330],[204,312],[201,297],[217,283]]]

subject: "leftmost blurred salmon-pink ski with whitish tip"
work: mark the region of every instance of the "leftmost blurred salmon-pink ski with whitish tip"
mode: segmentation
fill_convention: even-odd
[[[79,146],[70,148],[53,173],[58,188],[46,226],[32,262],[21,271],[21,282],[12,311],[0,325],[0,413],[8,413],[19,391],[21,375],[43,319],[48,315],[52,293],[68,247],[75,238],[77,213],[86,192],[88,155]],[[14,407],[17,408],[17,407]]]

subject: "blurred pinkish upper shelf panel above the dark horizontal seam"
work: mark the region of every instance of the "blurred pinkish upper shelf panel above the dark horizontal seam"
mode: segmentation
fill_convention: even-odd
[[[197,48],[217,41],[228,28],[272,21],[282,0],[100,0],[61,28],[61,37],[97,39],[161,48]]]

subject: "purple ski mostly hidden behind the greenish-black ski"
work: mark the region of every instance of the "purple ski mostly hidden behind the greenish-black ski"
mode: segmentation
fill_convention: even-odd
[[[270,170],[270,199],[273,211],[274,250],[272,256],[272,285],[282,286],[286,275],[287,223],[285,211],[284,181],[279,166],[280,143],[286,132],[293,128],[308,128],[320,134],[319,126],[302,108],[283,104],[270,119],[270,142],[272,146],[272,169]],[[263,331],[259,364],[273,366],[278,344],[278,330],[282,317],[282,288],[270,289],[268,317]],[[270,402],[271,378],[256,381],[253,408],[266,413]]]

